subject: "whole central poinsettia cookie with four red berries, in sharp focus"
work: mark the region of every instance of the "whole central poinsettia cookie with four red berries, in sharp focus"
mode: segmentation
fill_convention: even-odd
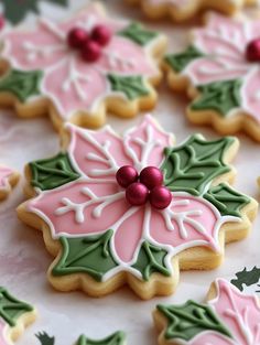
[[[94,297],[128,283],[143,299],[170,294],[180,269],[221,262],[225,241],[247,236],[257,203],[227,183],[238,140],[172,136],[147,116],[119,137],[66,126],[64,150],[30,163],[18,214],[43,231],[61,291]]]

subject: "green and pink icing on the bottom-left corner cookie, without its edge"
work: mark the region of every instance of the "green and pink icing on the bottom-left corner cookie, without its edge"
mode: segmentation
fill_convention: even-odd
[[[7,289],[0,287],[0,344],[12,345],[12,333],[19,326],[20,317],[33,312],[33,306],[19,301]]]

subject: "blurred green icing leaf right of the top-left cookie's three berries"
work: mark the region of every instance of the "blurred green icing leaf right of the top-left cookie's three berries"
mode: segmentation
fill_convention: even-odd
[[[140,23],[131,23],[122,31],[119,31],[118,35],[127,37],[143,46],[154,40],[158,36],[158,32],[147,30]]]

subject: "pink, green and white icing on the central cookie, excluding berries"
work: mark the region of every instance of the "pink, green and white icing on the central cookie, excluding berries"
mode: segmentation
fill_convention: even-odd
[[[228,184],[210,186],[230,171],[225,155],[232,138],[206,141],[193,136],[174,148],[172,136],[150,116],[122,138],[110,127],[66,129],[66,153],[30,164],[39,195],[25,205],[62,244],[54,276],[85,272],[97,281],[120,271],[140,280],[155,271],[172,276],[172,258],[181,251],[197,246],[219,251],[219,229],[227,222],[240,223],[241,209],[250,203]],[[171,204],[163,209],[149,202],[131,205],[116,179],[123,165],[138,173],[145,166],[161,169]]]

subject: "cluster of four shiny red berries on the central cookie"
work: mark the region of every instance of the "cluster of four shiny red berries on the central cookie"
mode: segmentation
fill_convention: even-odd
[[[147,166],[138,174],[131,165],[121,166],[116,179],[126,188],[126,198],[133,206],[144,205],[148,201],[158,209],[166,208],[172,202],[172,193],[163,186],[163,174],[155,166]]]

